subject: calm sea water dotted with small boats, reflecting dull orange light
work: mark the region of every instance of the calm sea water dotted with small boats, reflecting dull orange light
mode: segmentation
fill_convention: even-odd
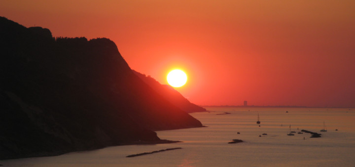
[[[183,141],[181,143],[114,146],[54,157],[5,160],[0,164],[30,167],[355,167],[355,109],[207,110],[211,112],[191,115],[208,127],[157,132],[161,139]],[[231,114],[219,114],[224,112]],[[256,124],[258,113],[260,127]],[[320,132],[323,121],[327,132]],[[305,129],[321,133],[322,137],[310,138],[306,133],[287,136],[289,125],[291,131]],[[228,144],[232,139],[245,142]],[[182,149],[126,158],[131,154],[175,147]]]

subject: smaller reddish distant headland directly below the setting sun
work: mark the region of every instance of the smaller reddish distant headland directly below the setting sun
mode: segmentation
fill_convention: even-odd
[[[190,101],[188,101],[185,97],[183,97],[177,90],[175,90],[172,86],[167,84],[161,84],[156,81],[154,78],[150,76],[146,76],[142,73],[139,73],[135,70],[133,72],[141,78],[145,83],[147,83],[150,87],[152,87],[157,93],[167,99],[170,103],[177,106],[179,109],[185,112],[203,112],[206,109],[197,106]]]

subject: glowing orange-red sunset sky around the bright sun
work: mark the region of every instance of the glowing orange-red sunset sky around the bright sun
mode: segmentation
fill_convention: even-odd
[[[53,36],[107,37],[198,105],[355,107],[355,0],[1,0]]]

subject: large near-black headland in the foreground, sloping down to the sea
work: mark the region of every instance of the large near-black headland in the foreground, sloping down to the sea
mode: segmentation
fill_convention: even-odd
[[[202,127],[109,39],[55,39],[0,17],[0,52],[0,159],[169,142],[154,130]]]

